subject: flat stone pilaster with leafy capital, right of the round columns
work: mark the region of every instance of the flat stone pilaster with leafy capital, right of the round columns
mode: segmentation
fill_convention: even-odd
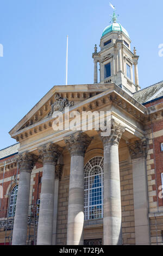
[[[149,245],[148,188],[146,170],[146,139],[128,144],[133,163],[135,243]]]

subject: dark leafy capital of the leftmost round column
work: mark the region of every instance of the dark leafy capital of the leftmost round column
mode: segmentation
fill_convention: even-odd
[[[17,158],[17,163],[20,166],[20,172],[32,172],[32,169],[35,166],[35,163],[38,160],[38,157],[33,155],[33,154],[29,154],[27,152],[24,152],[22,154],[18,154]]]

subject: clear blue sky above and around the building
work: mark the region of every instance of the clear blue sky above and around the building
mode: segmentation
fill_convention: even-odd
[[[162,0],[112,0],[139,60],[140,86],[163,80]],[[8,132],[54,85],[93,83],[92,52],[109,25],[112,9],[103,0],[0,0],[0,149],[16,143]],[[99,50],[99,47],[98,47]]]

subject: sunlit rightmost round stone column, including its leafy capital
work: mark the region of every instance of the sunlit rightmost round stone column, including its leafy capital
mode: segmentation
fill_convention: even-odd
[[[110,136],[101,137],[104,144],[104,245],[122,245],[121,186],[118,145],[125,128],[111,120]]]

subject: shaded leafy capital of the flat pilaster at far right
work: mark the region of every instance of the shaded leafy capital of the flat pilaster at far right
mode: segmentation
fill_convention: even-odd
[[[130,152],[131,159],[138,159],[140,157],[147,156],[147,139],[143,138],[133,143],[128,143],[128,149]]]

